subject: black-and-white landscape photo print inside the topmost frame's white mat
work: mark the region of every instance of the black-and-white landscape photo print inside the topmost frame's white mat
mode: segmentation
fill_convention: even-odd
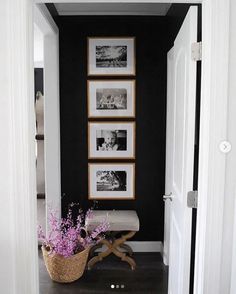
[[[96,46],[96,67],[126,67],[127,46]]]

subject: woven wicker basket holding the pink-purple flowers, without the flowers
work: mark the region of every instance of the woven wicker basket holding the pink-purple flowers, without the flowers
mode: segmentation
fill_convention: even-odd
[[[89,250],[88,247],[71,257],[63,257],[58,254],[49,254],[42,246],[44,262],[51,279],[59,283],[71,283],[78,280],[84,273]]]

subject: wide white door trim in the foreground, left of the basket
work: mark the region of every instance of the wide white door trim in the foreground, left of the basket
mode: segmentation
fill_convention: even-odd
[[[39,292],[32,12],[29,1],[1,1],[0,285],[6,294]]]

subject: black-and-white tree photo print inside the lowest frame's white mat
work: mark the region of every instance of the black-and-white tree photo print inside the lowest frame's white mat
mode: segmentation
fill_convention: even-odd
[[[96,180],[97,191],[126,191],[126,171],[97,171]]]

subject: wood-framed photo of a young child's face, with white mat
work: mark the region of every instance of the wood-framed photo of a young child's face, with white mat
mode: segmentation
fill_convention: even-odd
[[[88,157],[134,159],[134,122],[89,122]]]

